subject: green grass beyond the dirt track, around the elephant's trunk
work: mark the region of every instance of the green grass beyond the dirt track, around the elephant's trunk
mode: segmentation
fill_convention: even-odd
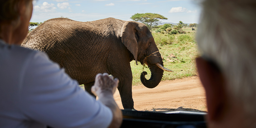
[[[198,56],[197,43],[195,41],[195,32],[191,28],[186,28],[186,34],[158,34],[152,32],[160,54],[163,56],[164,67],[174,72],[164,71],[162,81],[179,79],[197,75],[195,58]],[[188,33],[189,32],[189,33]],[[177,58],[169,58],[173,54]],[[169,61],[171,62],[169,62]],[[140,63],[136,65],[135,61],[131,61],[132,85],[142,84],[140,82],[140,73],[146,71],[146,78],[150,78],[150,70],[147,66]]]

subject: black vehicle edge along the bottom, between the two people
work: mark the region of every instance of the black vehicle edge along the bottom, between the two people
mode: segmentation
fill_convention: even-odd
[[[121,128],[206,128],[205,112],[164,113],[122,110]]]

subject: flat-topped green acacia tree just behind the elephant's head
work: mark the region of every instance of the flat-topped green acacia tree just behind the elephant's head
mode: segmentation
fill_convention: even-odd
[[[149,30],[153,28],[153,26],[157,26],[160,22],[160,19],[168,19],[160,14],[156,13],[137,13],[132,15],[131,19],[133,21],[138,21],[147,25]]]

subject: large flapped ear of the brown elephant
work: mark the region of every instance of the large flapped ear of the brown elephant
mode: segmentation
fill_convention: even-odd
[[[134,21],[126,21],[121,29],[121,37],[122,37],[122,43],[124,46],[127,47],[127,49],[133,54],[134,59],[137,63],[137,55],[138,55],[138,23]]]

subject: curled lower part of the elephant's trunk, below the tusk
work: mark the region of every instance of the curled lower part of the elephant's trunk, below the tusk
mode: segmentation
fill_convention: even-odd
[[[161,65],[163,65],[163,64],[161,64]],[[150,79],[147,80],[145,78],[145,75],[147,74],[147,72],[142,72],[140,75],[140,81],[142,82],[142,84],[145,87],[154,88],[160,83],[160,81],[163,77],[164,70],[160,69],[156,64],[149,64],[148,66],[149,66],[149,69],[151,72]]]

